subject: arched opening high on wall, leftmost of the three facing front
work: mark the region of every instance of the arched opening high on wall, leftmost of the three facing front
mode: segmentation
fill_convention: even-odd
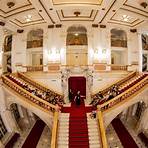
[[[27,34],[27,48],[43,47],[43,30],[31,30]]]

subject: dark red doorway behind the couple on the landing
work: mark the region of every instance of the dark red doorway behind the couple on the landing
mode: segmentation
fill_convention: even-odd
[[[79,90],[81,95],[86,96],[86,78],[85,77],[70,77],[68,79],[68,90],[72,90],[76,95]]]

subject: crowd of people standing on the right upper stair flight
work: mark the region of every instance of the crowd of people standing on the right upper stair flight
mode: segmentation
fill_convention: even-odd
[[[93,96],[93,100],[91,101],[90,105],[96,107],[98,104],[102,104],[108,100],[111,100],[112,98],[116,97],[118,94],[120,94],[118,85],[113,85],[106,93],[106,95],[104,95],[101,91],[95,94]]]

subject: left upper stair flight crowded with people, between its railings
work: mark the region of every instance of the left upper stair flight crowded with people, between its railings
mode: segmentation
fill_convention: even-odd
[[[18,84],[19,86],[21,86],[23,89],[27,90],[32,95],[35,95],[53,105],[58,104],[59,106],[63,106],[64,104],[64,100],[62,96],[55,94],[50,90],[48,91],[39,90],[38,88],[32,86],[31,84],[11,74],[7,75],[7,77],[13,82],[15,82],[16,84]]]

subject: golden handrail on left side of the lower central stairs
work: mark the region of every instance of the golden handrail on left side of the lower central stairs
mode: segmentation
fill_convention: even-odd
[[[58,117],[59,117],[59,113],[54,112],[52,136],[51,136],[51,148],[57,147]]]

